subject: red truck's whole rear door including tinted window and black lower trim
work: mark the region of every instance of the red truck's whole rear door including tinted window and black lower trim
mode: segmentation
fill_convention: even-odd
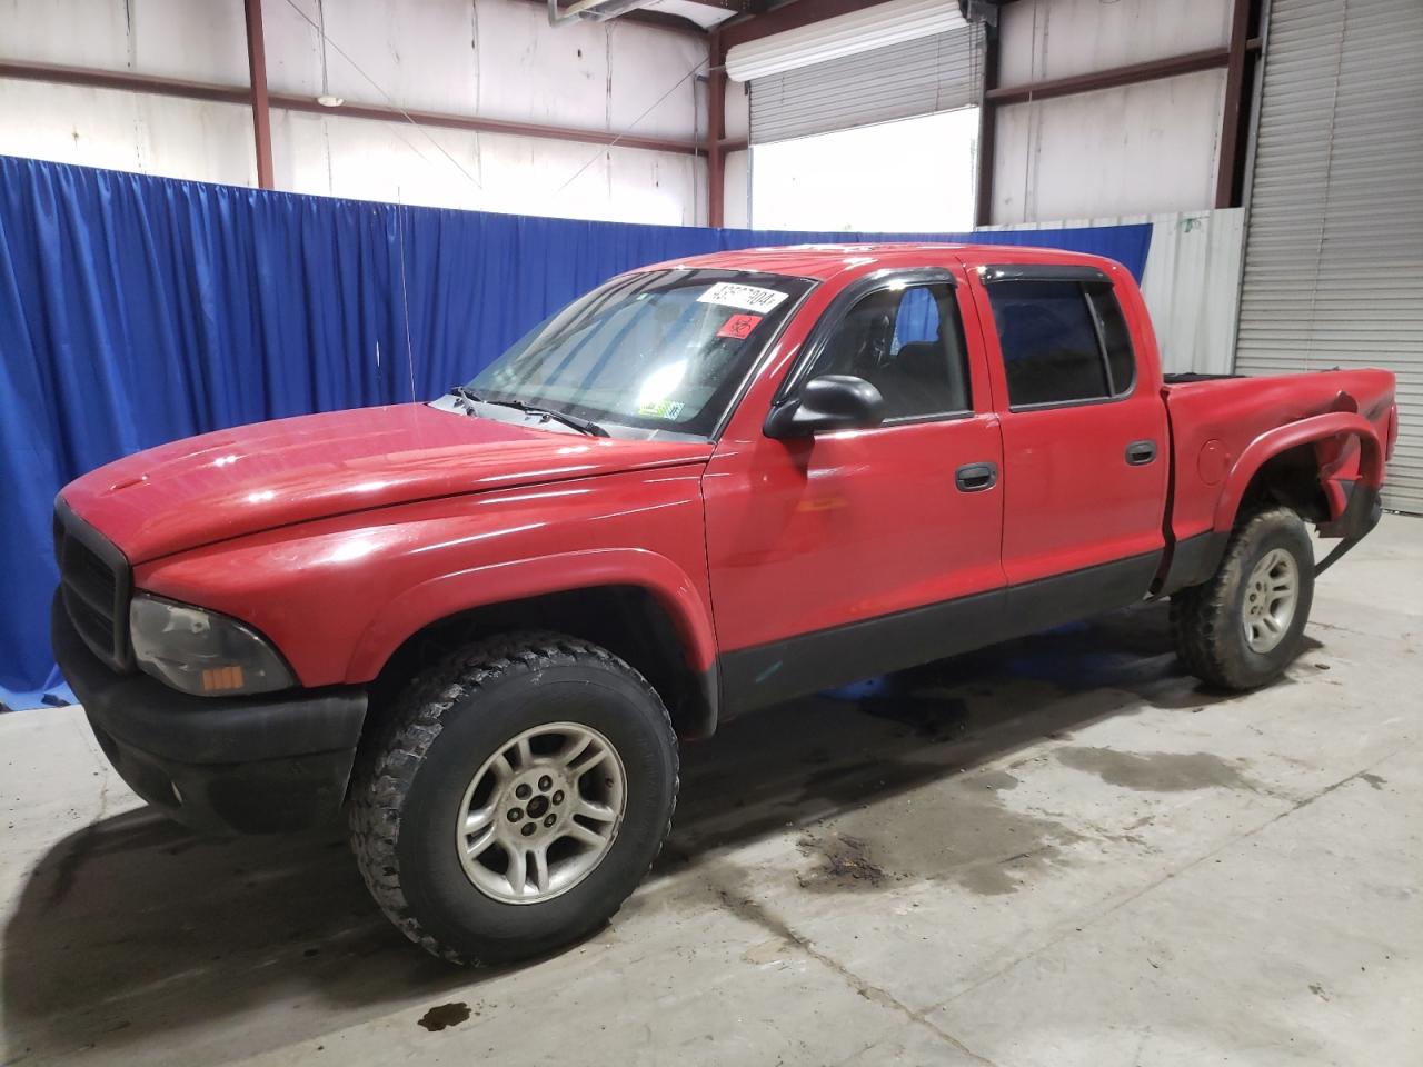
[[[1002,417],[1009,626],[1140,599],[1165,546],[1170,448],[1111,277],[1012,265],[970,279]]]

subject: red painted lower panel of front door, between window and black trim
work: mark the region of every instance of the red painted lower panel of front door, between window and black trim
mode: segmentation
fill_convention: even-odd
[[[998,417],[723,447],[703,478],[707,562],[723,650],[1003,586]]]

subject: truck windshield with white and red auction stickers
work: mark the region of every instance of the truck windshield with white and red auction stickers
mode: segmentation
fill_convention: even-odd
[[[650,270],[593,290],[465,387],[596,424],[710,437],[811,282],[747,270]]]

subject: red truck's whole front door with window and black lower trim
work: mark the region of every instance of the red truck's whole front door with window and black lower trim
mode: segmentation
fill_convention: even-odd
[[[1003,457],[966,300],[961,272],[852,283],[780,396],[852,374],[885,397],[885,423],[793,440],[757,423],[720,442],[703,491],[724,711],[936,659],[996,625]]]

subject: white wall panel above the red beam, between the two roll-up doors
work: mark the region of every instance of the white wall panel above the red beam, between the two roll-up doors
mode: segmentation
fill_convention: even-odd
[[[1231,0],[1019,0],[1000,14],[999,84],[1221,47],[1229,13]]]

